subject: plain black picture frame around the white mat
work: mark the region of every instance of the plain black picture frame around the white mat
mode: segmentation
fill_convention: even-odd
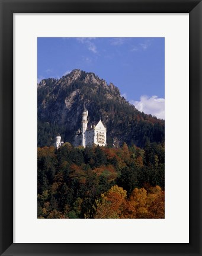
[[[200,0],[0,0],[1,8],[1,255],[202,255],[201,241],[201,18]],[[190,242],[188,244],[13,243],[13,14],[189,13]],[[183,129],[183,127],[182,127]],[[182,213],[183,215],[183,213]]]

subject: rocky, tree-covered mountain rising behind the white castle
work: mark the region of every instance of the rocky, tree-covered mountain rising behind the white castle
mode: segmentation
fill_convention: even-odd
[[[81,127],[84,106],[88,121],[101,120],[107,127],[107,145],[144,146],[146,141],[164,142],[165,122],[141,113],[121,97],[119,89],[94,73],[75,69],[60,79],[43,79],[37,84],[38,146],[50,146],[60,133],[73,142]]]

